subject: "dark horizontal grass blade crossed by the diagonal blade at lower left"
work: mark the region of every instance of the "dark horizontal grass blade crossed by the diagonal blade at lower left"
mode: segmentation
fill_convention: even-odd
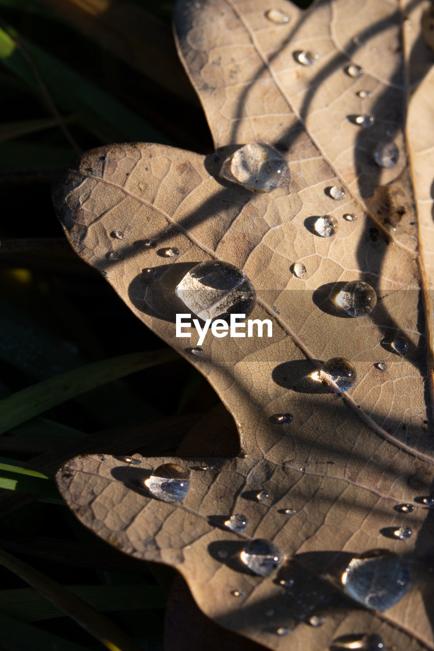
[[[97,611],[109,613],[166,607],[164,592],[155,585],[68,585],[73,594]],[[23,622],[62,617],[63,612],[33,588],[0,590],[0,611]]]

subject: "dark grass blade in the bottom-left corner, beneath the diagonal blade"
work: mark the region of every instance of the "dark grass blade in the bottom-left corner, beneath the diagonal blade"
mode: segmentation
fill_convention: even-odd
[[[89,649],[0,613],[2,651],[89,651]]]

